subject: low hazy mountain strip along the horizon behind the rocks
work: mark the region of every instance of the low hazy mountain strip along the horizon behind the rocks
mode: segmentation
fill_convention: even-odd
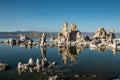
[[[15,32],[0,32],[0,38],[16,38],[19,37],[20,34],[26,34],[31,38],[41,37],[41,35],[45,33],[46,36],[49,37],[57,37],[58,32],[37,32],[37,31],[15,31]],[[81,32],[83,36],[94,36],[94,32]],[[116,38],[120,38],[120,32],[116,33]]]

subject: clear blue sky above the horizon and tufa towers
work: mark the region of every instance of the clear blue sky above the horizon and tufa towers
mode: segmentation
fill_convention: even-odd
[[[66,21],[81,32],[120,32],[120,0],[0,0],[0,32],[57,32]]]

